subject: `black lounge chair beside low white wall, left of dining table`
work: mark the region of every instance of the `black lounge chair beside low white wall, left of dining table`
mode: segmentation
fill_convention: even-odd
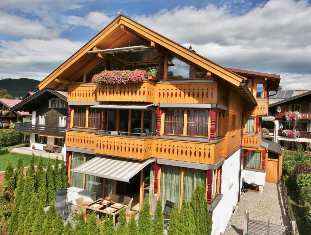
[[[63,220],[69,216],[70,209],[72,206],[72,201],[68,202],[68,189],[58,189],[56,190],[54,205],[57,212],[60,212]]]

